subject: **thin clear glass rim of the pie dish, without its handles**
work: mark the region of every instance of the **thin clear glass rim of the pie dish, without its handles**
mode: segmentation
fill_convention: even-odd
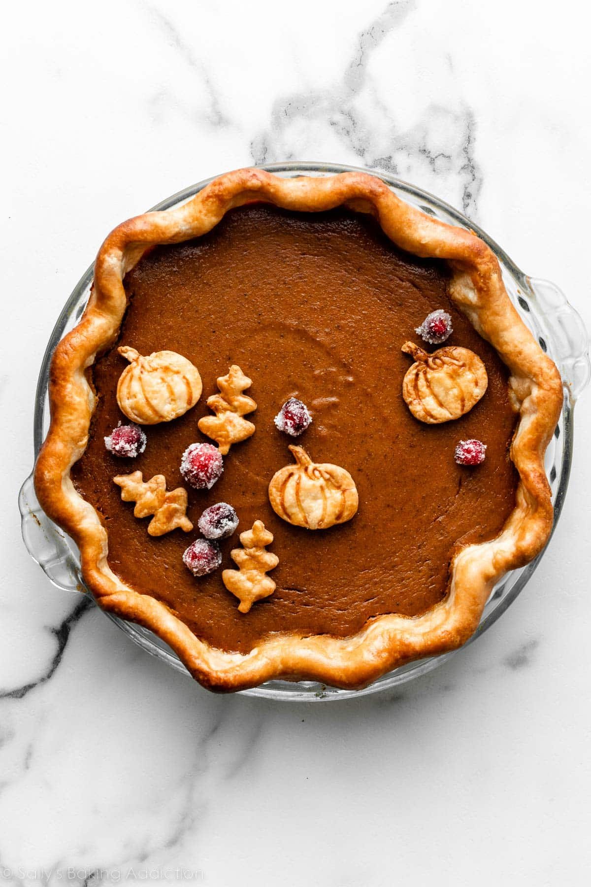
[[[416,187],[416,185],[409,184],[408,182],[405,182],[397,177],[393,177],[392,175],[385,173],[379,169],[364,169],[362,167],[354,167],[338,163],[324,163],[320,161],[289,161],[284,163],[262,164],[259,168],[277,174],[284,173],[305,175],[306,173],[315,173],[323,175],[335,175],[341,172],[364,172],[369,173],[372,176],[376,176],[377,178],[382,179],[386,184],[394,187],[397,191],[406,192],[409,195],[412,195],[412,197],[414,197],[415,199],[422,199],[425,200],[425,202],[428,204],[433,204],[434,206],[440,208],[445,213],[447,213],[448,216],[453,218],[456,224],[476,233],[480,239],[483,239],[486,244],[491,247],[495,255],[497,255],[502,264],[505,265],[511,276],[517,281],[519,286],[523,288],[525,293],[533,296],[533,292],[530,287],[529,278],[527,277],[527,275],[525,275],[525,273],[517,267],[517,264],[512,261],[509,255],[507,255],[507,253],[496,243],[496,241],[494,241],[494,239],[492,239],[486,232],[484,232],[478,226],[478,224],[475,224],[466,216],[463,216],[463,214],[459,212],[459,210],[447,204],[444,200],[440,200],[439,197],[436,197],[432,193]],[[179,203],[182,203],[184,200],[189,200],[192,196],[194,196],[194,194],[201,191],[207,184],[210,184],[210,182],[213,182],[214,179],[218,177],[219,175],[208,177],[196,184],[189,185],[188,187],[183,188],[183,190],[172,194],[166,200],[161,200],[158,204],[156,204],[156,206],[152,207],[150,211],[168,209],[176,206]],[[58,341],[61,339],[62,334],[64,333],[66,324],[72,315],[74,305],[80,300],[81,294],[89,287],[92,281],[93,269],[94,263],[91,264],[87,271],[84,272],[82,278],[78,281],[78,283],[74,287],[72,294],[66,301],[64,308],[60,311],[58,320],[53,327],[50,340],[48,341],[43,355],[41,371],[39,373],[35,392],[35,459],[37,458],[37,455],[43,443],[44,401],[49,383],[51,355],[56,345],[58,344]],[[569,398],[565,397],[563,409],[564,431],[562,436],[563,460],[560,479],[556,492],[556,499],[554,502],[555,519],[550,538],[556,530],[556,525],[560,518],[560,514],[562,513],[564,496],[571,472],[573,444],[573,406],[574,404],[570,402]],[[463,644],[463,647],[459,648],[458,650],[453,650],[450,653],[442,654],[439,656],[427,657],[425,659],[418,660],[416,663],[411,663],[411,671],[405,671],[408,666],[403,666],[402,669],[394,669],[388,675],[385,675],[383,679],[380,679],[377,682],[370,684],[369,687],[364,687],[361,690],[334,690],[333,688],[329,688],[330,692],[328,694],[323,693],[322,690],[316,693],[311,693],[309,692],[309,690],[299,689],[299,684],[294,683],[292,685],[293,689],[279,689],[276,687],[262,685],[261,687],[252,687],[247,690],[241,690],[239,691],[239,694],[265,699],[275,699],[281,702],[316,702],[321,700],[336,702],[343,699],[358,699],[362,696],[373,695],[378,692],[383,693],[388,689],[393,689],[393,687],[397,687],[400,686],[400,684],[402,683],[406,683],[408,680],[418,678],[421,675],[426,674],[427,672],[432,671],[435,668],[438,668],[439,665],[447,662],[447,660],[451,656],[457,655],[457,653],[459,653],[462,649],[468,647],[471,643],[477,640],[477,638],[480,637],[481,634],[486,632],[486,630],[490,628],[490,626],[493,625],[500,616],[502,616],[507,608],[509,608],[509,605],[514,600],[516,600],[517,595],[523,590],[525,584],[533,575],[533,572],[537,568],[545,550],[546,549],[544,548],[544,550],[533,561],[526,565],[525,569],[523,569],[519,577],[517,577],[515,585],[513,585],[513,587],[509,590],[509,593],[507,593],[503,600],[501,600],[494,607],[494,609],[492,609],[482,619],[482,621],[478,625],[478,629],[470,637],[470,640],[466,641],[466,643]],[[142,634],[137,631],[134,624],[128,623],[125,620],[120,619],[118,616],[113,616],[113,614],[107,613],[106,615],[109,616],[112,621],[117,624],[121,628],[121,630],[125,632],[128,637],[134,640],[136,644],[138,644],[140,647],[146,649],[148,652],[152,653],[152,655],[158,655],[160,659],[172,665],[175,670],[179,671],[180,673],[184,673],[187,677],[189,677],[189,672],[186,671],[183,663],[180,662],[180,660],[172,651],[168,651],[167,649],[163,648],[156,648],[148,640],[146,640]]]

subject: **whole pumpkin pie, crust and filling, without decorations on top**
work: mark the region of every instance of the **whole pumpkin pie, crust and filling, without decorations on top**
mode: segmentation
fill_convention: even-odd
[[[417,420],[402,396],[408,340],[445,310],[446,348],[469,349],[487,388],[458,418]],[[478,332],[477,332],[478,330]],[[118,458],[104,438],[127,422],[117,386],[140,355],[191,362],[203,396],[172,420],[142,425],[144,452]],[[223,474],[194,490],[180,473],[207,399],[238,365],[252,381],[254,433],[232,444]],[[297,438],[274,419],[307,404]],[[81,324],[51,366],[51,429],[35,469],[44,510],[81,549],[99,605],[165,640],[207,687],[274,678],[362,687],[418,657],[458,647],[478,625],[495,581],[530,561],[552,525],[543,452],[562,388],[556,367],[518,318],[486,244],[397,198],[377,177],[280,179],[240,170],[184,204],[124,223],[107,238]],[[518,410],[518,412],[516,412]],[[455,462],[477,439],[486,459]],[[294,462],[342,467],[358,508],[309,530],[276,514],[268,484]],[[151,537],[113,477],[163,475],[186,489],[193,531]],[[193,577],[183,552],[208,506],[228,502],[237,532],[221,569]],[[276,587],[238,611],[222,582],[239,535],[264,523]]]

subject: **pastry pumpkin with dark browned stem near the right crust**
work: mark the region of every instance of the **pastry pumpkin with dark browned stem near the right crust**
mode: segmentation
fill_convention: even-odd
[[[402,396],[416,419],[430,425],[459,419],[484,395],[488,376],[473,351],[453,345],[427,354],[412,341],[402,350],[416,361],[402,382]]]

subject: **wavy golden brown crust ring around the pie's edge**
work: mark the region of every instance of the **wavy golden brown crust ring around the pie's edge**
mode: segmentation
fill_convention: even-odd
[[[447,598],[423,616],[378,616],[344,639],[285,633],[242,655],[198,640],[165,604],[133,591],[113,574],[106,560],[105,527],[74,490],[70,468],[88,442],[94,407],[84,371],[118,334],[126,309],[125,273],[152,245],[199,237],[230,208],[256,200],[294,211],[346,205],[369,212],[398,247],[447,261],[453,301],[511,372],[509,384],[520,412],[511,458],[520,482],[515,510],[501,534],[455,555]],[[53,356],[50,404],[51,427],[35,466],[35,490],[46,513],[79,546],[86,584],[102,608],[156,632],[193,677],[214,690],[245,689],[268,679],[363,687],[400,664],[457,648],[477,628],[494,583],[507,570],[531,561],[552,527],[543,457],[562,405],[556,366],[509,301],[491,249],[474,234],[408,206],[384,182],[365,173],[281,178],[261,169],[238,169],[215,179],[182,207],[119,225],[97,255],[94,289],[81,323],[59,342]]]

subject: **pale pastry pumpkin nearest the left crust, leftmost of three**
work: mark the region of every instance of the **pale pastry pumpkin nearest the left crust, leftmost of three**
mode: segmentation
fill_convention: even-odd
[[[156,425],[177,419],[197,404],[201,376],[186,357],[176,351],[155,351],[149,357],[135,348],[118,351],[129,361],[117,384],[117,403],[128,419]]]

